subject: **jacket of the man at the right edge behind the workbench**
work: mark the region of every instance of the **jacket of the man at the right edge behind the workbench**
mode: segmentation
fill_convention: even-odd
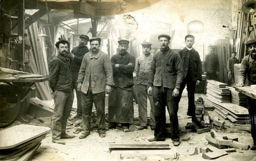
[[[238,72],[238,83],[244,84],[246,76],[249,85],[256,85],[256,59],[253,59],[251,54],[242,59]]]

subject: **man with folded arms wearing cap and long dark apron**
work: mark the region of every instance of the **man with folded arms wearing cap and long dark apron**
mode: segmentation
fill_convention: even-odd
[[[122,124],[124,132],[129,131],[133,122],[133,71],[135,58],[127,52],[128,40],[119,40],[119,53],[111,57],[114,88],[109,94],[109,128]]]

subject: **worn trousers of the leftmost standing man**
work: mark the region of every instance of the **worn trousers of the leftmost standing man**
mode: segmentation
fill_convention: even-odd
[[[70,116],[74,100],[73,90],[63,92],[55,91],[54,113],[52,118],[53,139],[59,140],[66,133],[67,119]]]

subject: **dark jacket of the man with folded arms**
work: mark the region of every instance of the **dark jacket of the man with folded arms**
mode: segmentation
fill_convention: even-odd
[[[125,90],[132,90],[133,86],[133,71],[135,68],[135,58],[128,52],[125,54],[115,54],[111,57],[113,67],[114,86]],[[128,65],[132,63],[131,65]],[[115,64],[120,64],[115,67]]]

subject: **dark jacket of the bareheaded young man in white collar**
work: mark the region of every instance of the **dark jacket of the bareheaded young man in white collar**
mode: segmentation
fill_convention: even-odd
[[[183,63],[183,78],[189,75],[191,81],[202,80],[202,64],[199,53],[192,48],[188,50],[186,47],[179,51]]]

